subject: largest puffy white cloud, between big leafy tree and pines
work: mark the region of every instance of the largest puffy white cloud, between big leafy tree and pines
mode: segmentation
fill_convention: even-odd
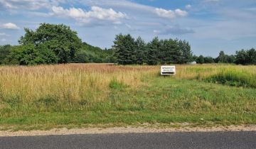
[[[92,23],[92,21],[111,21],[114,24],[120,24],[122,19],[127,18],[125,13],[113,9],[103,9],[98,6],[92,6],[90,11],[76,8],[63,9],[60,6],[53,6],[52,11],[54,16],[74,18],[81,24]]]

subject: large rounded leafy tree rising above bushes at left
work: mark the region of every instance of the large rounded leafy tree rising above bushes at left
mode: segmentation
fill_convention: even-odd
[[[82,44],[77,33],[71,31],[70,27],[49,23],[41,23],[36,31],[25,28],[25,35],[21,36],[18,42],[21,45],[33,44],[36,47],[45,45],[58,56],[59,63],[71,62]]]

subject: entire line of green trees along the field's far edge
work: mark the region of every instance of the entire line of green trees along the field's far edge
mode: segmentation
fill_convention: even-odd
[[[19,45],[0,45],[0,65],[41,65],[70,62],[112,62],[119,65],[164,65],[197,63],[235,63],[256,65],[256,50],[238,50],[235,55],[220,51],[218,57],[192,55],[186,40],[153,38],[146,43],[141,37],[116,35],[114,45],[102,50],[82,43],[78,33],[63,24],[41,23],[35,30],[25,28]]]

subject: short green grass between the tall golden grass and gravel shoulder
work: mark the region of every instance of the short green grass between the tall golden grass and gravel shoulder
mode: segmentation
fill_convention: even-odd
[[[2,101],[9,106],[0,108],[0,125],[18,130],[110,123],[256,124],[255,89],[172,77],[145,77],[144,81],[147,86],[132,89],[112,79],[104,101],[63,102],[50,97],[27,103],[16,98]],[[242,83],[247,84],[247,79]]]

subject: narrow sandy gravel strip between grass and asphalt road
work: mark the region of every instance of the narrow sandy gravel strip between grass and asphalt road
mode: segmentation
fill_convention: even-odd
[[[49,131],[0,131],[0,136],[49,136],[72,134],[100,133],[164,133],[164,132],[213,132],[213,131],[256,131],[256,125],[218,126],[211,128],[145,128],[145,127],[112,127],[112,128],[53,128]]]

